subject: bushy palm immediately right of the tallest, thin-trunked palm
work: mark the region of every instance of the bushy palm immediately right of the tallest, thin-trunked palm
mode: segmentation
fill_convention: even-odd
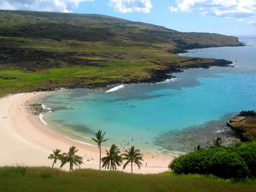
[[[122,163],[122,157],[119,155],[120,154],[120,149],[117,148],[115,144],[112,144],[109,152],[106,150],[106,157],[102,157],[102,168],[106,167],[109,168],[110,166],[110,171],[116,170],[117,166],[120,166]]]

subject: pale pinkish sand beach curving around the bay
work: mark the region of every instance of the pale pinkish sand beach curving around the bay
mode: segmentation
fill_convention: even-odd
[[[78,155],[84,158],[81,168],[99,168],[99,150],[96,147],[74,142],[58,134],[40,121],[39,116],[28,113],[26,108],[31,100],[48,92],[20,93],[0,99],[0,165],[24,164],[28,166],[51,166],[48,160],[53,149],[67,152],[70,146],[79,149]],[[105,154],[105,150],[102,150]],[[93,158],[93,160],[92,160]],[[90,161],[87,161],[90,159]],[[144,156],[140,170],[134,166],[135,173],[159,173],[167,171],[172,160],[169,156]],[[147,162],[147,166],[145,164]],[[59,167],[58,162],[56,167]],[[64,166],[68,170],[68,165]],[[122,170],[122,168],[118,168]],[[124,170],[130,172],[130,166]]]

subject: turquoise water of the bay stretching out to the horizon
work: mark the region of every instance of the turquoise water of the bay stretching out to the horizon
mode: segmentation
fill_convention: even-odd
[[[89,144],[94,144],[90,138],[95,132],[103,130],[110,139],[106,147],[134,145],[147,154],[190,151],[198,143],[224,136],[222,125],[229,114],[256,109],[256,37],[239,40],[248,46],[182,54],[231,60],[235,67],[185,70],[168,82],[125,85],[107,93],[53,93],[42,98],[55,110],[45,113],[44,120],[61,134]]]

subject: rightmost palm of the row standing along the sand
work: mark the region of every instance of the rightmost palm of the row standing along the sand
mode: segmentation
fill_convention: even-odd
[[[140,153],[140,150],[138,149],[134,150],[134,146],[132,146],[131,148],[129,148],[129,151],[125,150],[125,152],[126,153],[121,155],[121,156],[124,156],[123,160],[127,160],[127,162],[124,164],[123,169],[125,169],[129,163],[131,163],[131,165],[132,163],[135,163],[140,169],[140,166],[142,165],[140,161],[144,161],[142,159],[142,154]]]

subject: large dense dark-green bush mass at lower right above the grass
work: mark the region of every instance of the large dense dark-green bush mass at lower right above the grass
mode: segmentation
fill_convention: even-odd
[[[256,176],[256,140],[231,147],[190,152],[175,158],[169,169],[178,174],[214,174],[222,178]]]

